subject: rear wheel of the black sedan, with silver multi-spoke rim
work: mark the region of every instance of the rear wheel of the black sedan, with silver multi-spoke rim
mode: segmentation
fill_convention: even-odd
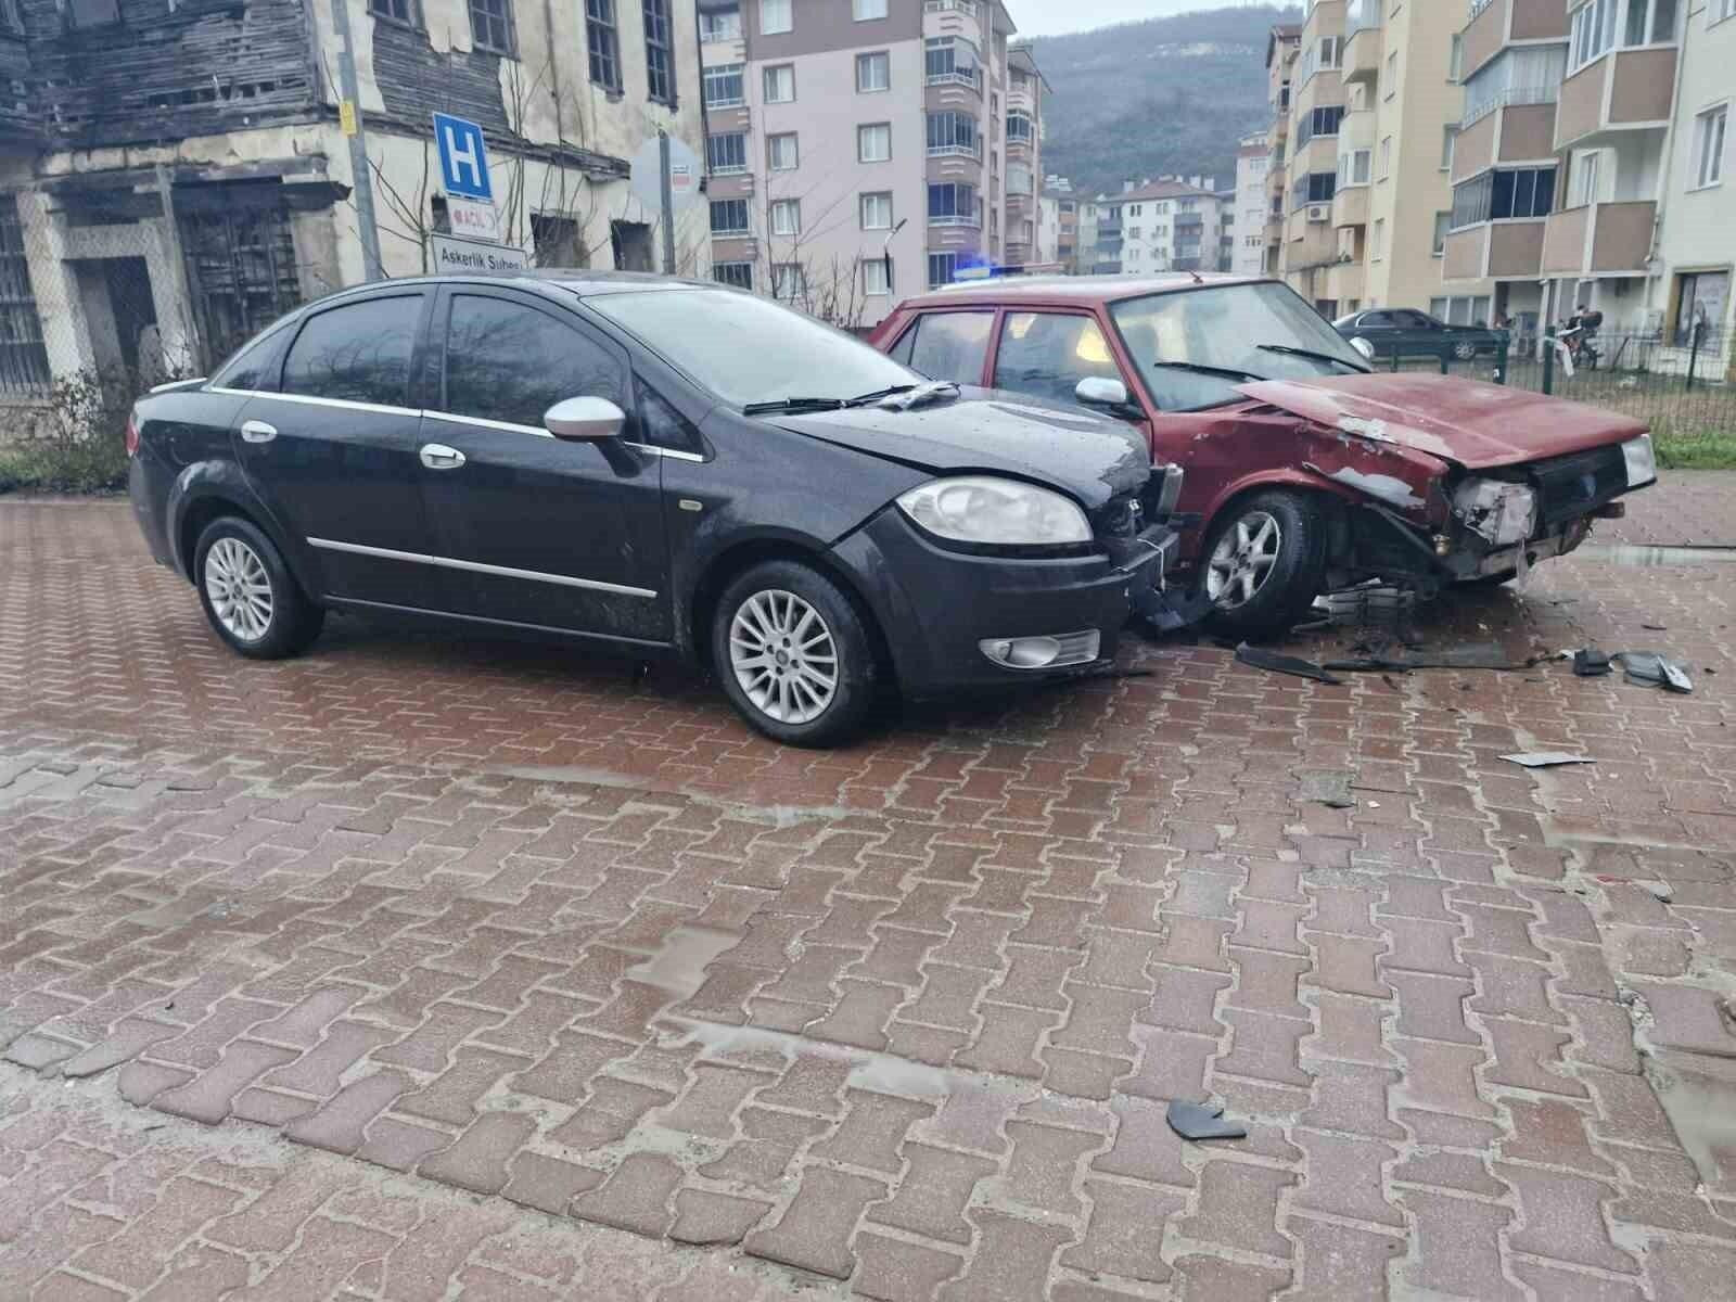
[[[325,627],[325,611],[307,601],[271,538],[240,516],[205,526],[193,582],[212,628],[250,660],[299,656]]]

